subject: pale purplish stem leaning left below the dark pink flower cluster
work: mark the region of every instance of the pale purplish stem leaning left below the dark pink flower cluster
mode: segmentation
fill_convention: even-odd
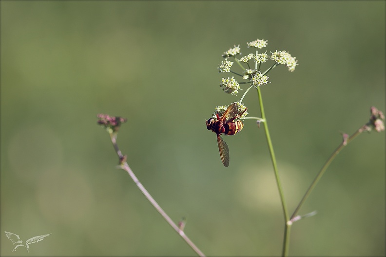
[[[125,157],[122,155],[121,151],[118,148],[118,145],[116,144],[116,132],[110,133],[111,142],[113,143],[114,149],[116,150],[116,153],[118,154],[119,160],[125,160]],[[146,199],[153,205],[153,207],[158,211],[158,213],[164,218],[177,232],[178,235],[181,236],[182,239],[185,240],[185,242],[193,249],[194,252],[196,252],[199,256],[205,256],[200,249],[198,249],[197,246],[191,241],[191,239],[188,238],[188,236],[185,235],[184,231],[180,229],[174,221],[166,214],[166,212],[159,206],[157,202],[155,202],[154,198],[150,195],[150,193],[146,190],[146,188],[139,182],[137,177],[135,176],[132,169],[129,167],[126,161],[122,162],[120,165],[120,168],[123,170],[126,170],[127,173],[129,173],[130,177],[133,179],[134,183],[137,185],[139,190],[142,192],[142,194],[146,197]]]

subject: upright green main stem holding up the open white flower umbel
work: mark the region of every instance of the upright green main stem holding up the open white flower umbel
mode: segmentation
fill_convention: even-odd
[[[279,179],[279,173],[278,173],[277,165],[276,165],[276,157],[275,157],[275,153],[273,151],[272,141],[270,139],[270,130],[268,129],[268,123],[267,123],[267,119],[266,119],[265,112],[264,112],[263,99],[261,96],[260,88],[257,88],[257,94],[259,96],[261,118],[264,120],[263,124],[264,124],[265,133],[266,133],[268,148],[270,149],[270,156],[271,156],[271,161],[272,161],[272,165],[273,165],[273,170],[275,172],[276,184],[277,184],[277,187],[279,189],[280,200],[281,200],[282,207],[283,207],[283,213],[284,213],[284,219],[285,219],[284,240],[283,240],[283,256],[287,256],[288,246],[289,246],[289,230],[290,230],[290,227],[287,225],[287,222],[289,221],[289,215],[288,215],[288,211],[287,211],[286,202],[284,200],[283,187],[282,187],[282,185],[280,183],[280,179]]]

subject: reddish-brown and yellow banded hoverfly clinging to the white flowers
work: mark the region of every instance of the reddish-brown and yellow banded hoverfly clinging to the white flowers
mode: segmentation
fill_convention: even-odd
[[[243,129],[244,125],[241,121],[235,121],[247,110],[247,108],[239,113],[237,103],[231,104],[221,117],[216,113],[217,120],[210,118],[206,121],[207,129],[212,130],[217,134],[217,144],[220,150],[221,161],[224,166],[229,166],[229,148],[227,143],[221,138],[221,134],[234,135]]]

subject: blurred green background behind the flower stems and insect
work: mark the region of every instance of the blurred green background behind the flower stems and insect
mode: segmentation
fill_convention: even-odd
[[[386,110],[385,1],[1,1],[1,255],[27,255],[4,231],[52,233],[31,256],[195,255],[116,169],[97,113],[129,119],[129,165],[206,255],[280,255],[264,130],[226,137],[225,168],[205,127],[242,95],[219,88],[221,55],[257,38],[299,60],[262,88],[292,212],[340,133]],[[244,103],[260,116],[255,91]],[[385,132],[344,148],[300,214],[314,210],[290,255],[385,256]]]

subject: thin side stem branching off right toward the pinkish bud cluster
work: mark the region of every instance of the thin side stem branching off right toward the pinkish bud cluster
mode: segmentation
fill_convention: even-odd
[[[313,180],[312,184],[309,186],[309,189],[307,190],[306,194],[303,196],[302,201],[299,202],[298,206],[296,207],[295,211],[293,212],[291,216],[291,220],[296,216],[299,209],[302,207],[303,203],[306,201],[306,199],[309,197],[309,194],[311,193],[312,189],[316,186],[320,178],[323,176],[325,171],[327,170],[328,166],[331,164],[331,162],[335,159],[335,157],[338,155],[338,153],[342,150],[343,147],[347,146],[349,142],[351,142],[354,138],[356,138],[361,132],[363,131],[363,127],[355,131],[354,134],[352,134],[350,137],[347,138],[347,141],[343,141],[336,149],[332,152],[326,163],[323,165],[321,170],[319,171],[318,175],[316,175],[315,179]]]

